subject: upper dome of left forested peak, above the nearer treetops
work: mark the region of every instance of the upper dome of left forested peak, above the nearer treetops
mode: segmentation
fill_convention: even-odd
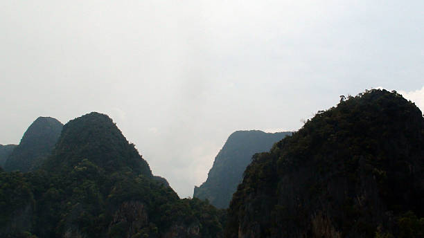
[[[128,143],[109,116],[92,112],[70,120],[45,163],[46,170],[72,170],[87,159],[107,172],[120,170],[152,176],[148,163]]]

